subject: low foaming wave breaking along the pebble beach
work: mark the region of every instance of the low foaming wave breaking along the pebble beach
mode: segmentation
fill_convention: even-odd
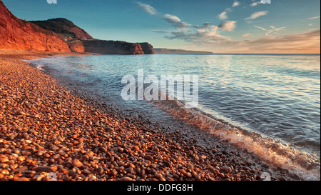
[[[166,100],[153,103],[188,124],[198,126],[223,141],[235,144],[270,164],[287,169],[302,180],[320,180],[320,160],[315,154],[308,154],[293,148],[290,144],[215,119],[200,109],[185,108],[184,101]]]

